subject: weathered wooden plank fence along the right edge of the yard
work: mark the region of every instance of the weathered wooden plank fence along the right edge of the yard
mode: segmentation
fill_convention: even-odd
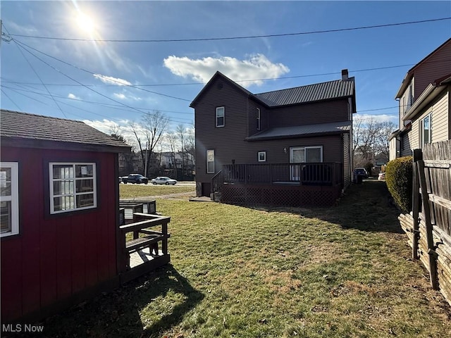
[[[451,140],[414,150],[412,212],[399,216],[412,258],[451,304]]]

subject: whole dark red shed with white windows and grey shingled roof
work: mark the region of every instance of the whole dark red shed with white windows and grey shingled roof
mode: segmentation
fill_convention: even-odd
[[[130,146],[81,121],[3,109],[0,119],[2,322],[118,287],[118,154]]]

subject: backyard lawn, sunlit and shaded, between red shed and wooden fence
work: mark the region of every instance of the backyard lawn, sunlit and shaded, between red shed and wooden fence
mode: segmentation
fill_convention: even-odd
[[[385,182],[333,208],[156,206],[171,265],[49,318],[46,337],[450,337]]]

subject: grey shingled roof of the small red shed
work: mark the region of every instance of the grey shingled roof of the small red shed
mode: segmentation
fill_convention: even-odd
[[[0,123],[2,139],[28,139],[130,148],[128,144],[77,120],[1,109]]]

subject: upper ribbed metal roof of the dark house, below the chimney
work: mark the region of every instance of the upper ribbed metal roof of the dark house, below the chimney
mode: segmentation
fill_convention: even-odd
[[[254,94],[257,99],[268,106],[287,106],[290,104],[303,104],[312,101],[337,99],[354,94],[354,77],[347,80],[335,80],[309,84],[307,86],[281,89],[273,92]]]

